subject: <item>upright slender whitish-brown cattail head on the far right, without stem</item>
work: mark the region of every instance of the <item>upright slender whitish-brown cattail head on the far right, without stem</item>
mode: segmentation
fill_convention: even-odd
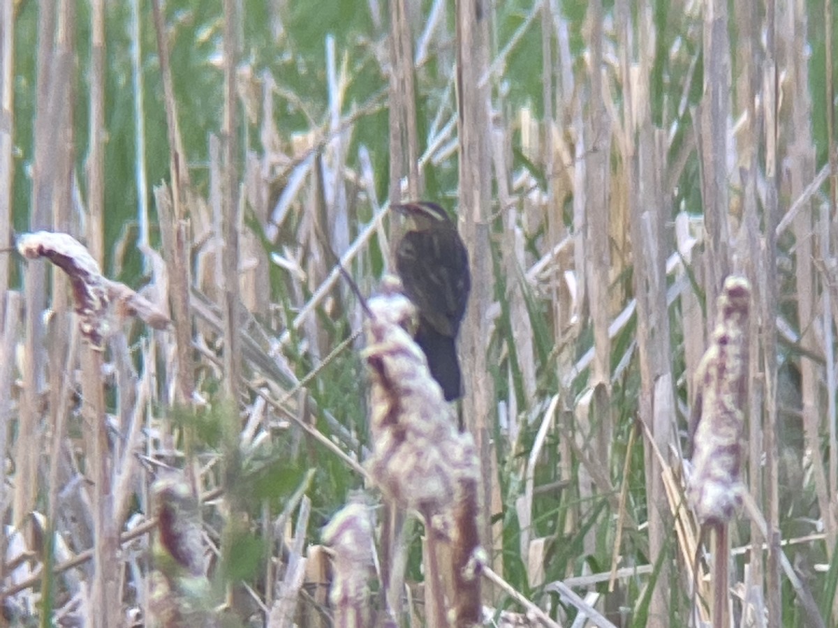
[[[730,520],[742,501],[742,423],[747,399],[747,316],[751,287],[729,276],[710,344],[696,373],[689,500],[701,523]]]

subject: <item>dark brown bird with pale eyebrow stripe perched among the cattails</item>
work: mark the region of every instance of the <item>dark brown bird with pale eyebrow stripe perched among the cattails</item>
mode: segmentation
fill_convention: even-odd
[[[457,226],[437,203],[396,205],[407,219],[396,247],[396,270],[419,311],[416,344],[427,357],[446,401],[463,395],[456,339],[466,311],[471,275]]]

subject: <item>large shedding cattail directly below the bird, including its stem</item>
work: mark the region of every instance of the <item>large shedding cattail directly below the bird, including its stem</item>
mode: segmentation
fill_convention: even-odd
[[[474,625],[480,616],[480,569],[484,553],[478,540],[479,465],[473,438],[460,433],[453,410],[427,366],[425,353],[409,329],[416,309],[397,286],[370,299],[365,358],[372,373],[371,430],[373,451],[366,462],[375,484],[408,510],[422,513],[429,564],[428,595],[433,600],[431,623]],[[443,611],[438,588],[437,538],[450,543],[444,555],[453,572],[449,600]]]

